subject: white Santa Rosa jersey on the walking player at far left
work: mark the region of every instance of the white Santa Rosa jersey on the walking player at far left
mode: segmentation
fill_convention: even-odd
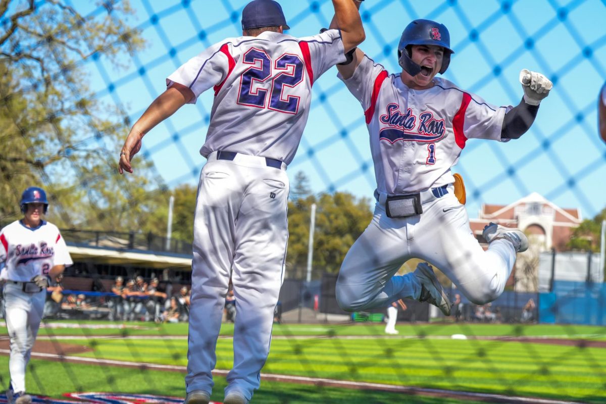
[[[65,240],[59,229],[44,220],[29,228],[21,220],[0,231],[0,262],[5,262],[0,276],[16,282],[28,282],[36,275],[46,275],[55,265],[72,265]]]

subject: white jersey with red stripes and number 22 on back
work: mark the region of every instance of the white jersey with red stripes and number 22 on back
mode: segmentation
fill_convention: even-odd
[[[166,82],[189,87],[196,96],[191,103],[215,88],[202,156],[236,151],[289,164],[307,122],[311,86],[343,61],[339,30],[307,38],[265,31],[212,45]]]

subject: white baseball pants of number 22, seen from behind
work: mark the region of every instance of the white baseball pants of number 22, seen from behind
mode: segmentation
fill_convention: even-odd
[[[263,157],[208,156],[196,200],[187,392],[213,388],[216,340],[231,276],[236,311],[233,369],[225,392],[250,400],[271,342],[288,240],[288,177]]]

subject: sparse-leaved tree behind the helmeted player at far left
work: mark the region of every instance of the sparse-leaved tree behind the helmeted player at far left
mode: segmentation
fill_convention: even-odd
[[[120,68],[142,47],[128,1],[104,1],[82,16],[61,0],[0,1],[0,221],[20,216],[21,191],[38,185],[60,227],[153,230],[165,187],[137,156],[135,176],[118,176],[130,122],[87,85],[85,62]]]

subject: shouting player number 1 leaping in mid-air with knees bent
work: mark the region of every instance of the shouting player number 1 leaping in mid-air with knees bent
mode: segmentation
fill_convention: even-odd
[[[418,19],[398,45],[402,71],[390,75],[359,49],[339,65],[339,78],[364,108],[377,188],[373,220],[345,256],[336,286],[344,310],[385,307],[416,299],[450,315],[450,302],[432,268],[394,276],[413,257],[436,265],[478,305],[503,291],[516,253],[528,248],[518,229],[484,228],[488,251],[471,233],[464,205],[454,196],[451,167],[468,139],[508,141],[528,130],[551,82],[522,70],[524,98],[495,107],[443,78],[450,62],[447,28]]]

